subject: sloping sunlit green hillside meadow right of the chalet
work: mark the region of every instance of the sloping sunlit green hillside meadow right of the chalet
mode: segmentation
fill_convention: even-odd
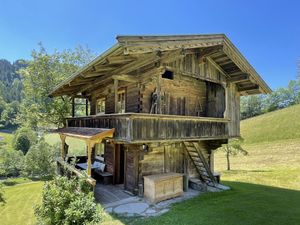
[[[241,122],[245,144],[300,138],[300,104]]]

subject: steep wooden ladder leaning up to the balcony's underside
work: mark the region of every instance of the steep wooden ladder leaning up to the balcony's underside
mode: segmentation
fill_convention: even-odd
[[[217,181],[210,170],[210,166],[208,165],[208,162],[206,161],[201,151],[199,143],[196,141],[184,141],[183,146],[185,147],[185,150],[187,151],[192,163],[194,164],[199,174],[200,180],[208,186],[215,187],[217,185]]]

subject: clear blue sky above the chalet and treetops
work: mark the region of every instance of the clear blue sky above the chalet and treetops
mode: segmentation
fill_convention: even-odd
[[[225,33],[271,88],[296,78],[300,1],[0,0],[0,58],[30,58],[88,46],[99,54],[116,35]]]

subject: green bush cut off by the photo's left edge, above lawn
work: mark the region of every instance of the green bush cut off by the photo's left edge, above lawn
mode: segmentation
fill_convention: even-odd
[[[21,151],[8,150],[0,146],[0,176],[18,176],[23,168],[24,155]]]

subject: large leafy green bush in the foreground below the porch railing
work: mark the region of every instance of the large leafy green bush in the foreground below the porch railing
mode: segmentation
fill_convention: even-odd
[[[46,182],[42,204],[35,209],[41,224],[91,224],[101,221],[93,193],[83,191],[78,180],[56,177]]]

